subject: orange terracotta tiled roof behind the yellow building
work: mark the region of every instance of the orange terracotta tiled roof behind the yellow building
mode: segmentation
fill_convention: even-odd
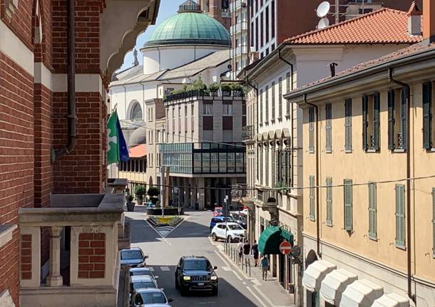
[[[418,43],[421,36],[409,36],[404,11],[382,8],[327,28],[287,38],[292,45],[342,43]]]

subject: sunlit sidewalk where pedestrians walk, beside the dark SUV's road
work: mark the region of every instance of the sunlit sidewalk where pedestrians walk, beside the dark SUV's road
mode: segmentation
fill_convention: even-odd
[[[225,258],[230,261],[230,263],[237,268],[237,271],[242,274],[245,279],[252,281],[253,287],[256,291],[262,294],[263,301],[267,302],[267,305],[273,307],[293,307],[296,306],[294,303],[293,294],[288,293],[285,288],[282,288],[280,283],[277,281],[277,277],[272,277],[271,272],[267,273],[267,281],[262,280],[262,271],[260,266],[254,266],[254,259],[250,260],[251,266],[242,268],[242,263],[237,264],[237,243],[228,244],[230,249],[225,250],[225,244],[215,244],[220,253],[225,256]],[[260,263],[260,260],[259,260]]]

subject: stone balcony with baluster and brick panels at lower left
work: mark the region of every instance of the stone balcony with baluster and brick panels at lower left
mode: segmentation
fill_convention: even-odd
[[[116,306],[123,206],[123,194],[51,194],[49,207],[20,209],[21,306]]]

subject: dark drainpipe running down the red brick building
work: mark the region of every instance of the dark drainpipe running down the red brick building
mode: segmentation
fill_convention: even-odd
[[[67,6],[67,56],[68,56],[68,144],[59,150],[52,150],[51,163],[61,157],[68,155],[77,143],[77,128],[76,128],[76,69],[75,63],[75,50],[74,50],[74,14],[75,14],[75,1],[68,0]]]

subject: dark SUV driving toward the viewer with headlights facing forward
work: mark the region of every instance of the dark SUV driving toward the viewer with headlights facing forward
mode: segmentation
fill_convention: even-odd
[[[183,256],[175,270],[175,288],[184,296],[188,291],[210,291],[218,295],[218,276],[204,256]]]

